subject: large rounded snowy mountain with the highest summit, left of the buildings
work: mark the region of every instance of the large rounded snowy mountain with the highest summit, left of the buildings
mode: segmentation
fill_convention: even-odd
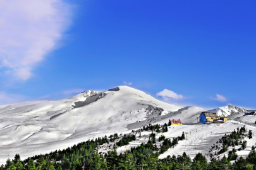
[[[0,107],[0,164],[64,149],[92,137],[124,132],[133,123],[174,113],[181,107],[126,86],[118,91],[85,91],[60,101]]]

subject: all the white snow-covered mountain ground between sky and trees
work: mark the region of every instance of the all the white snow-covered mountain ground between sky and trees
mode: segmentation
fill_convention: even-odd
[[[229,105],[210,110],[219,116],[233,116],[233,121],[220,127],[198,124],[197,118],[202,111],[203,108],[195,106],[181,107],[164,103],[128,86],[104,92],[88,90],[59,101],[33,101],[0,106],[0,164],[17,153],[21,159],[25,159],[35,154],[65,149],[94,137],[128,133],[149,123],[163,125],[173,118],[180,119],[184,125],[169,127],[166,137],[178,137],[182,132],[188,132],[188,140],[179,142],[160,158],[183,152],[191,157],[197,152],[205,155],[209,152],[209,146],[224,133],[232,132],[249,120],[251,124],[248,128],[256,133],[255,127],[252,127],[255,116],[243,116],[243,108]],[[144,135],[149,134],[145,132]],[[157,134],[157,137],[160,135]],[[146,136],[131,142],[127,149],[147,142]],[[254,139],[249,141],[248,146],[251,147],[255,143],[253,141]],[[118,152],[122,150],[126,150],[126,146],[118,148]],[[106,152],[106,148],[102,148],[102,151]]]

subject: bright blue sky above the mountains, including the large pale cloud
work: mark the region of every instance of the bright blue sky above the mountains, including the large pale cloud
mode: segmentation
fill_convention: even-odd
[[[256,109],[255,1],[28,1],[0,4],[1,105],[131,82],[177,105]]]

